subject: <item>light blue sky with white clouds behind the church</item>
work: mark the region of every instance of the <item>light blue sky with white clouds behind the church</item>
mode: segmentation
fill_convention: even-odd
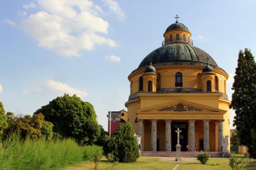
[[[0,101],[5,111],[33,114],[64,93],[107,112],[126,109],[128,75],[160,47],[180,17],[193,44],[232,84],[238,51],[256,54],[254,0],[0,0]],[[231,122],[234,111],[231,110]],[[231,123],[232,126],[232,123]]]

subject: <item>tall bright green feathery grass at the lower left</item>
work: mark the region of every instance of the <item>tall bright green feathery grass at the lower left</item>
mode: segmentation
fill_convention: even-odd
[[[101,149],[97,146],[80,147],[72,139],[45,141],[27,138],[22,141],[17,134],[0,142],[0,170],[63,169],[90,159],[93,149]]]

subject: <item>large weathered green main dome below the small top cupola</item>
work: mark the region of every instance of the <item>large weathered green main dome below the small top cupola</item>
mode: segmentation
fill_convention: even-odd
[[[160,48],[149,53],[140,63],[139,67],[152,64],[166,64],[166,63],[179,63],[179,62],[196,62],[196,63],[208,63],[214,66],[218,66],[215,61],[202,49],[192,46],[189,43],[170,43],[163,45]]]

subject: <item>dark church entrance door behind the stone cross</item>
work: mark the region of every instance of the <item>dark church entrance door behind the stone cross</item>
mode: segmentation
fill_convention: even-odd
[[[176,151],[176,145],[177,145],[177,133],[175,132],[175,130],[177,130],[177,128],[180,128],[180,130],[182,130],[182,132],[180,133],[180,145],[181,147],[181,151],[186,151],[186,145],[187,143],[187,123],[184,122],[173,122],[172,123],[172,145],[171,145],[171,150],[172,151]]]

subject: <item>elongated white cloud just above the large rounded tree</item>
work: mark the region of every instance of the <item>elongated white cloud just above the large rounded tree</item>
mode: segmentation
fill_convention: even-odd
[[[70,87],[69,85],[63,84],[61,82],[56,82],[54,80],[48,80],[47,86],[54,91],[59,91],[70,95],[76,94],[78,97],[81,98],[88,95],[85,91],[80,91],[78,89]]]

